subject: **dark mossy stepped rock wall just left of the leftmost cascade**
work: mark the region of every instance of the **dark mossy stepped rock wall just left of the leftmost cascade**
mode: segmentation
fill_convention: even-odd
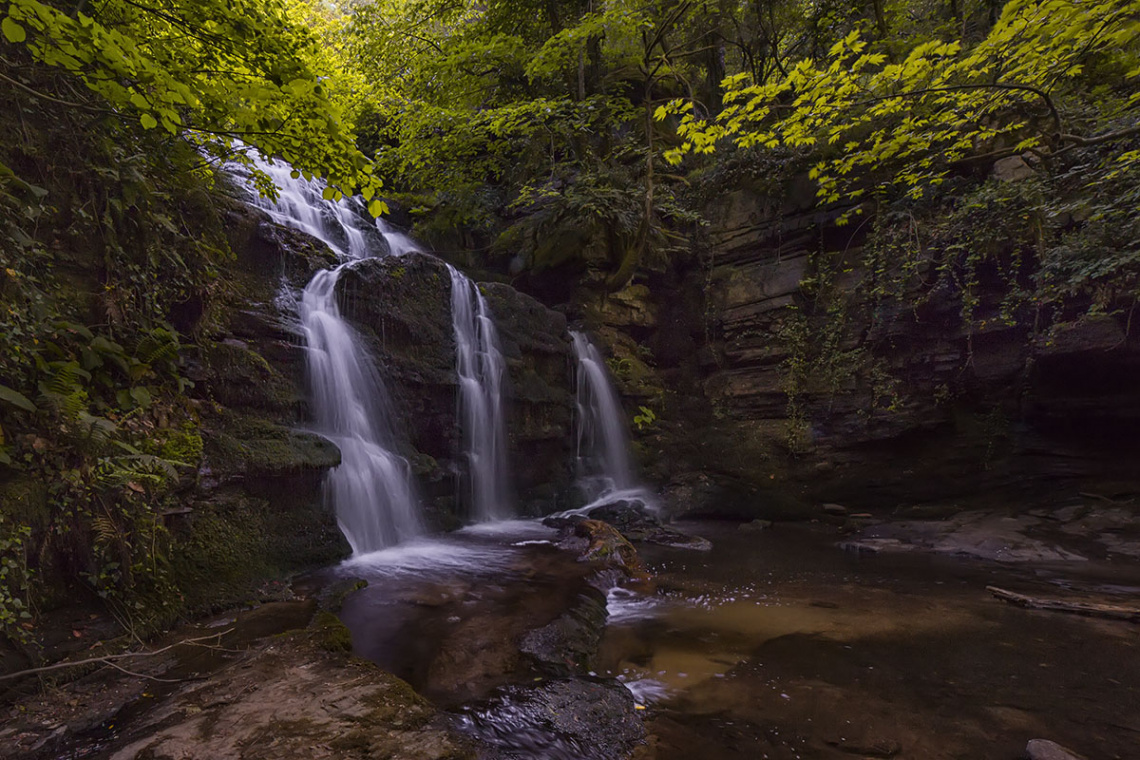
[[[199,324],[209,340],[187,357],[202,461],[187,510],[168,517],[176,569],[202,605],[349,551],[321,498],[340,451],[299,430],[308,418],[303,341],[279,299],[283,283],[303,286],[333,256],[244,205],[226,221],[235,253],[223,272],[226,295]]]

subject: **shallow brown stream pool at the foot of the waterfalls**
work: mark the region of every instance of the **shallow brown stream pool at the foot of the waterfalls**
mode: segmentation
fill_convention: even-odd
[[[684,528],[712,550],[640,547],[656,589],[609,593],[593,663],[644,708],[643,757],[1015,760],[1039,737],[1140,757],[1135,627],[985,590],[1134,596],[1135,570],[858,556],[820,526]],[[342,611],[358,654],[457,716],[540,679],[519,637],[591,593],[552,538],[499,523],[348,563],[337,572],[369,581]]]

